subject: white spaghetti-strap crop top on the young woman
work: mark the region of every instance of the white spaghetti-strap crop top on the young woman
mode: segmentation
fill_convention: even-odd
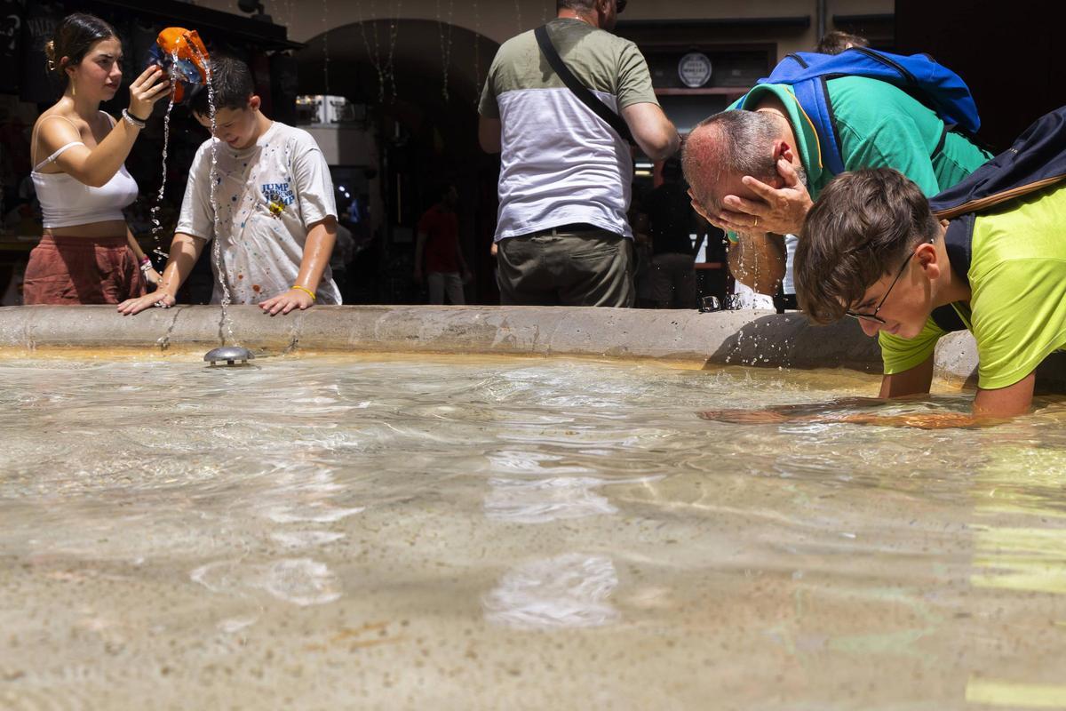
[[[114,126],[114,119],[111,124]],[[53,162],[63,151],[72,146],[83,145],[85,144],[81,141],[72,141],[33,168],[31,174],[33,187],[37,191],[37,200],[41,201],[45,228],[75,227],[111,220],[125,221],[123,208],[130,206],[136,199],[136,180],[126,169],[125,164],[111,180],[99,188],[86,185],[66,173],[38,173],[45,164]]]

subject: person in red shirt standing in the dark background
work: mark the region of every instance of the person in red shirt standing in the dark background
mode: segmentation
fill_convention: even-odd
[[[440,201],[418,221],[415,280],[421,284],[424,275],[431,304],[443,304],[446,292],[451,304],[466,304],[463,285],[470,280],[470,270],[459,248],[459,220],[455,213],[458,201],[455,185],[445,185]]]

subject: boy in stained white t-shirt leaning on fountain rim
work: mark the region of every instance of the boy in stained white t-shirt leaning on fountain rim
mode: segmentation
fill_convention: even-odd
[[[207,243],[221,240],[223,273],[215,274],[212,304],[222,301],[222,281],[235,304],[258,304],[274,316],[294,308],[340,304],[329,271],[337,238],[337,207],[329,167],[309,133],[259,111],[260,99],[247,65],[212,59],[215,133],[196,151],[189,172],[171,258],[157,290],[118,305],[124,314],[151,306],[173,306]],[[203,91],[193,114],[210,130]],[[215,155],[212,208],[211,161]]]

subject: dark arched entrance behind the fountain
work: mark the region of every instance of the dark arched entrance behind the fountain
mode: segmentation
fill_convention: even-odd
[[[421,300],[411,279],[415,227],[445,181],[459,191],[461,242],[474,272],[467,298],[495,303],[488,249],[499,161],[478,146],[477,102],[497,48],[464,28],[402,19],[335,28],[297,53],[301,94],[355,104],[336,136],[335,175],[352,168],[368,177],[375,245],[353,274],[353,303]]]

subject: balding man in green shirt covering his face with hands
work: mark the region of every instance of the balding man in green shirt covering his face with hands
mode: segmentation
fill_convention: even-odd
[[[931,197],[991,158],[892,84],[838,77],[826,86],[846,171],[895,168]],[[693,207],[733,233],[733,276],[760,293],[776,293],[786,269],[781,236],[800,233],[835,177],[791,87],[760,84],[742,103],[701,122],[685,142],[683,163]]]

